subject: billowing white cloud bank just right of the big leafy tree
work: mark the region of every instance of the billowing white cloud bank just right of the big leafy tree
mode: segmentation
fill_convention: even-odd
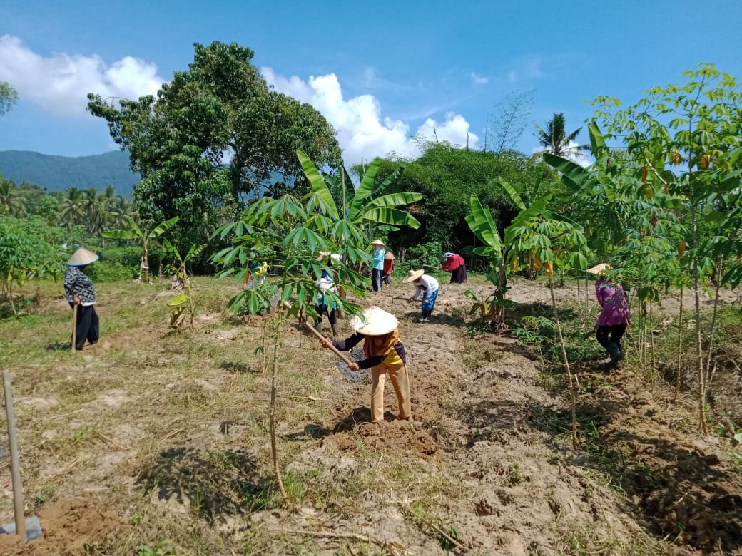
[[[314,106],[338,130],[338,142],[347,164],[389,153],[416,156],[420,150],[413,135],[433,140],[437,136],[439,141],[451,145],[468,143],[470,148],[475,148],[479,142],[479,137],[469,133],[469,122],[453,112],[446,114],[444,122],[428,118],[411,132],[410,125],[400,119],[382,116],[381,104],[375,96],[367,94],[344,99],[335,73],[310,76],[305,82],[297,76],[278,75],[270,67],[263,67],[261,71],[275,90]]]

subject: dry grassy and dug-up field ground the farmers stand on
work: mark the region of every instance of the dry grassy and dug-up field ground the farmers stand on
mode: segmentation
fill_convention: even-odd
[[[562,368],[510,334],[472,337],[462,285],[441,285],[429,323],[395,299],[409,285],[364,302],[400,320],[413,426],[395,420],[388,381],[386,421],[367,423],[368,381],[348,380],[298,324],[283,328],[278,451],[296,500],[286,509],[267,433],[271,321],[220,311],[234,286],[201,279],[197,330],[169,331],[164,289],[101,285],[102,338],[78,354],[67,351],[59,295],[0,329],[26,513],[44,533],[25,546],[0,535],[1,554],[742,554],[739,448],[697,434],[695,394],[674,400],[634,364],[631,343],[610,373],[574,362],[572,449]],[[555,294],[559,305],[577,300],[574,285]],[[510,298],[520,311],[551,304],[536,282],[514,283]],[[739,408],[742,373],[722,372]],[[0,523],[9,523],[3,446]]]

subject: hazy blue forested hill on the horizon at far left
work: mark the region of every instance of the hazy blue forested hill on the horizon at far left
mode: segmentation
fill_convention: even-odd
[[[116,194],[131,198],[139,173],[129,169],[129,155],[123,150],[91,156],[52,156],[32,150],[0,150],[0,174],[20,185],[39,185],[47,192],[67,188],[96,188],[112,185]]]

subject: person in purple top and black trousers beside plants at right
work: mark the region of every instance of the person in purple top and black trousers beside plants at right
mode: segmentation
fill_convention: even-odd
[[[595,327],[595,337],[608,352],[608,358],[600,363],[608,368],[614,368],[623,359],[621,339],[626,327],[631,324],[631,315],[628,312],[628,301],[623,286],[605,277],[609,270],[610,265],[603,262],[588,268],[587,272],[598,276],[595,282],[595,295],[603,308]]]

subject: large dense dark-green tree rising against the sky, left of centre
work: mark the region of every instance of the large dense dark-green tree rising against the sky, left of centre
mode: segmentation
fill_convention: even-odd
[[[252,50],[221,42],[194,48],[194,62],[157,98],[119,100],[116,108],[88,95],[91,113],[108,122],[142,174],[134,193],[142,219],[179,216],[181,249],[234,219],[277,175],[301,182],[297,148],[319,165],[340,159],[332,126],[312,106],[269,90]]]

